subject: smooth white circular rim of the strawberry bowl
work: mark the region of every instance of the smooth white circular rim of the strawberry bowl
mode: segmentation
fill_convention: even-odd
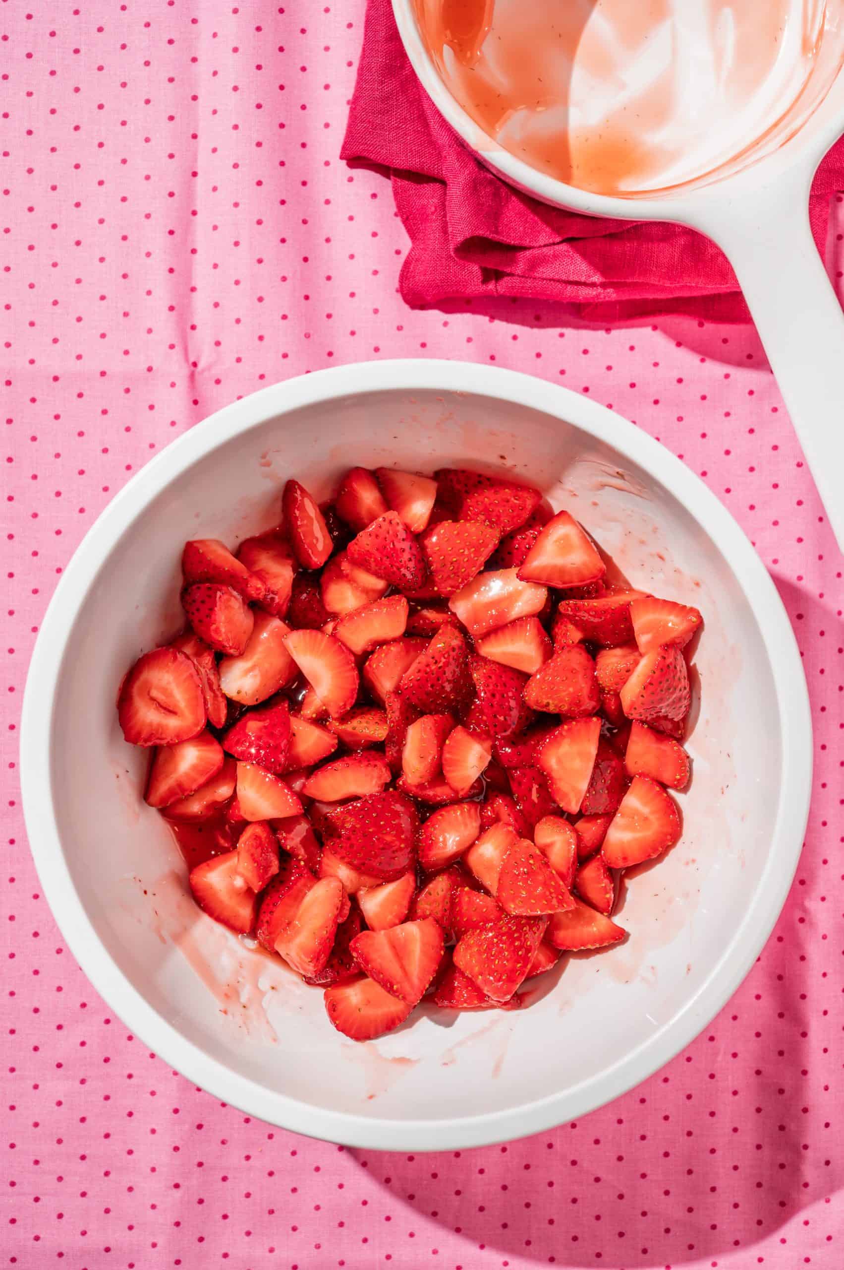
[[[146,1002],[100,941],[65,861],[53,805],[58,671],[67,636],[114,542],[152,498],[232,437],[302,406],[378,391],[467,392],[511,401],[571,423],[645,467],[684,503],[742,588],[770,662],[782,724],[783,781],[768,861],[741,923],[696,996],[599,1077],[523,1106],[440,1120],[390,1120],[319,1107],[267,1090],[183,1036]],[[70,951],[109,1008],[171,1067],[247,1115],[327,1142],[385,1151],[459,1149],[527,1137],[612,1101],[674,1058],[736,991],[782,911],[802,848],[811,776],[812,725],[795,634],[759,555],[703,481],[647,433],[570,389],[518,371],[433,358],[360,362],[282,381],[223,406],[166,446],[100,512],[74,552],[41,625],[22,711],[23,809],[38,878]]]

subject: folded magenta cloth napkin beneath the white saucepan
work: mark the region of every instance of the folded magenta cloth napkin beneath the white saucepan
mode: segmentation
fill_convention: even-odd
[[[416,79],[391,0],[368,4],[343,156],[391,177],[411,240],[400,288],[414,307],[519,296],[607,321],[652,312],[749,320],[726,257],[694,230],[560,211],[499,180]],[[841,188],[844,141],[814,184],[819,245],[830,193]]]

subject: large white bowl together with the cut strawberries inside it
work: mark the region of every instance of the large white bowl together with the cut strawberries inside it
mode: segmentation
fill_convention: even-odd
[[[697,1035],[810,767],[717,499],[595,403],[434,361],[279,384],[143,469],[65,570],[22,738],[44,894],[127,1026],[383,1149],[538,1132]]]

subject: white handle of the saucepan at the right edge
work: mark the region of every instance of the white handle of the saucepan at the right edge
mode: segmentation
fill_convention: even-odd
[[[698,220],[725,251],[844,550],[844,312],[808,224],[811,171],[713,202]]]

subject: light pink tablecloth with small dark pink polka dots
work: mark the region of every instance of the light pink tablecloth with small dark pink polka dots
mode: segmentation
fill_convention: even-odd
[[[750,326],[564,326],[510,298],[409,310],[392,198],[339,159],[362,25],[359,0],[0,11],[0,1266],[836,1270],[841,561],[775,385]],[[129,1035],[41,894],[16,772],[44,607],[132,472],[263,385],[407,356],[531,371],[679,453],[770,568],[816,726],[791,898],[698,1040],[576,1124],[415,1158],[250,1120]]]

